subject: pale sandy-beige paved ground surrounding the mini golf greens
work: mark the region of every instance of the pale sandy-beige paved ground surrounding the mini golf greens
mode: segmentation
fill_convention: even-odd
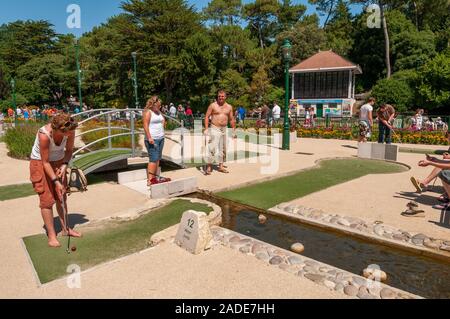
[[[292,144],[291,152],[280,152],[280,169],[265,175],[263,163],[229,163],[230,174],[214,172],[204,176],[196,168],[167,172],[171,178],[197,176],[202,189],[217,191],[229,186],[275,178],[289,172],[312,167],[323,158],[352,157],[356,146],[351,141],[301,139]],[[423,148],[422,146],[414,146]],[[444,147],[433,147],[444,149]],[[275,150],[275,149],[274,149]],[[310,154],[306,154],[310,153]],[[0,176],[10,182],[28,179],[27,162],[5,157],[0,144]],[[418,168],[423,158],[418,154],[400,153],[400,161],[412,166],[411,172],[393,175],[366,176],[296,200],[304,206],[333,211],[342,215],[358,216],[368,220],[382,220],[386,224],[407,231],[424,232],[429,236],[450,239],[449,224],[440,225],[440,212],[425,207],[426,218],[407,219],[400,212],[409,198],[403,195],[413,191],[409,177],[423,176],[429,169]],[[21,165],[21,166],[20,166]],[[398,194],[407,192],[406,194]],[[430,194],[419,201],[434,202]],[[404,197],[404,196],[403,196]],[[119,214],[123,210],[145,205],[148,199],[139,192],[115,184],[90,187],[85,194],[74,194],[70,211],[79,221],[95,220]],[[226,247],[216,247],[200,256],[192,256],[166,243],[144,253],[100,266],[82,276],[82,289],[70,290],[64,281],[56,281],[37,288],[31,265],[23,251],[20,238],[42,231],[42,220],[37,198],[0,202],[3,218],[0,222],[0,297],[44,298],[342,298],[324,287],[268,267],[258,260],[240,255]],[[226,265],[224,267],[223,265]],[[205,271],[208,269],[208,271]]]

